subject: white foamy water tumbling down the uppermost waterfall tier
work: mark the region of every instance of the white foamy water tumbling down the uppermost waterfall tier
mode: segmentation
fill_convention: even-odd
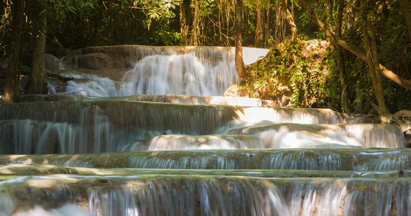
[[[239,77],[231,49],[214,47],[192,49],[176,54],[181,48],[167,49],[162,53],[143,51],[134,69],[123,75],[121,82],[90,74],[65,74],[76,80],[67,82],[63,93],[95,97],[127,95],[223,95]],[[158,54],[154,54],[158,53]],[[72,66],[77,69],[78,62]],[[51,84],[51,93],[57,86]]]

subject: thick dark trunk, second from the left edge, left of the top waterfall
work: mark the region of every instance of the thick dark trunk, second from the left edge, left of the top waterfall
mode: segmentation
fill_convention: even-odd
[[[36,21],[36,34],[33,46],[32,77],[29,84],[29,94],[47,93],[47,74],[45,72],[45,48],[46,48],[46,27],[47,12],[40,12]]]

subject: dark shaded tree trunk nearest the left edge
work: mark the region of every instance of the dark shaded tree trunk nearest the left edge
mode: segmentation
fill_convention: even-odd
[[[21,27],[23,26],[23,0],[12,1],[12,44],[10,45],[7,75],[5,77],[4,99],[5,103],[18,101],[18,64],[21,44]]]

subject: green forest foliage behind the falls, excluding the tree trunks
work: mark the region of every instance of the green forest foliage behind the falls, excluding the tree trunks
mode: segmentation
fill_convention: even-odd
[[[325,25],[335,27],[338,3],[329,0],[308,0],[319,19]],[[255,44],[257,0],[245,1],[243,7],[242,43]],[[294,4],[292,4],[293,2]],[[73,49],[95,45],[179,45],[181,39],[179,8],[184,3],[187,8],[186,24],[190,37],[194,14],[194,1],[181,0],[31,0],[26,1],[25,38],[21,50],[23,64],[31,65],[29,55],[32,42],[29,34],[36,27],[38,14],[47,11],[47,53],[64,56]],[[266,5],[261,0],[262,19],[266,21]],[[343,14],[343,39],[364,51],[362,29],[358,14],[358,1],[346,1]],[[382,11],[382,1],[369,4],[369,19],[375,26],[375,34],[366,32],[377,40],[379,61],[397,75],[411,80],[411,43],[408,39],[403,16],[398,1],[386,1],[388,13]],[[378,5],[379,4],[379,5]],[[191,8],[190,8],[191,5]],[[199,0],[199,43],[200,45],[234,45],[234,5],[227,0]],[[310,14],[298,4],[288,1],[292,8],[299,38],[327,40],[325,34],[310,18]],[[269,32],[290,34],[284,14],[279,12],[278,1],[271,1]],[[330,17],[331,16],[331,17]],[[7,58],[10,45],[10,6],[0,10],[0,57]],[[278,23],[276,23],[278,22]],[[265,31],[266,29],[264,29]],[[278,29],[277,29],[278,30]],[[333,29],[335,32],[335,29]],[[271,36],[282,40],[280,36]],[[311,42],[312,43],[312,42]],[[304,42],[284,41],[271,47],[269,55],[249,67],[250,77],[242,84],[253,97],[262,99],[282,99],[291,106],[316,106],[343,110],[338,61],[336,51],[323,46],[307,49]],[[344,51],[347,89],[353,112],[375,113],[371,102],[375,93],[367,65],[356,56]],[[24,67],[22,67],[24,68]],[[386,104],[390,112],[411,109],[411,92],[383,77]],[[285,98],[285,99],[284,99]]]

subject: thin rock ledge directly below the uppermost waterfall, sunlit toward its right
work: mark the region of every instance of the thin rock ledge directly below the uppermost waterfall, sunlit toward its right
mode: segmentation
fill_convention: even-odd
[[[262,100],[251,97],[224,97],[224,96],[188,96],[188,95],[130,95],[125,97],[85,97],[77,95],[23,95],[22,102],[34,101],[152,101],[173,104],[197,105],[228,105],[228,106],[258,106],[278,107],[276,101]]]

